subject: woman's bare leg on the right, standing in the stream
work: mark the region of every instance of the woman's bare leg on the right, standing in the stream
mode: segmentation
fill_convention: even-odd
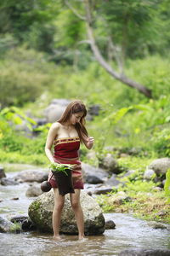
[[[77,228],[78,228],[78,238],[84,238],[84,218],[82,207],[80,204],[80,189],[75,189],[74,194],[70,194],[71,196],[71,207],[75,213],[75,218],[77,220]]]

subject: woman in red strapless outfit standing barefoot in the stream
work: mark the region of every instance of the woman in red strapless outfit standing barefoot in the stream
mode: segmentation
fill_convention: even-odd
[[[62,117],[51,125],[48,131],[45,153],[51,163],[72,164],[72,181],[75,193],[70,194],[71,207],[75,212],[77,220],[78,238],[84,237],[84,221],[82,207],[80,205],[80,189],[83,189],[81,162],[78,160],[78,149],[80,142],[90,149],[94,145],[94,137],[88,137],[88,131],[85,128],[85,116],[87,110],[81,101],[71,102]],[[54,144],[54,155],[51,148]],[[65,196],[59,195],[57,183],[49,173],[48,181],[54,188],[54,212],[53,212],[53,230],[54,239],[60,240],[59,224],[61,212],[65,204]]]

